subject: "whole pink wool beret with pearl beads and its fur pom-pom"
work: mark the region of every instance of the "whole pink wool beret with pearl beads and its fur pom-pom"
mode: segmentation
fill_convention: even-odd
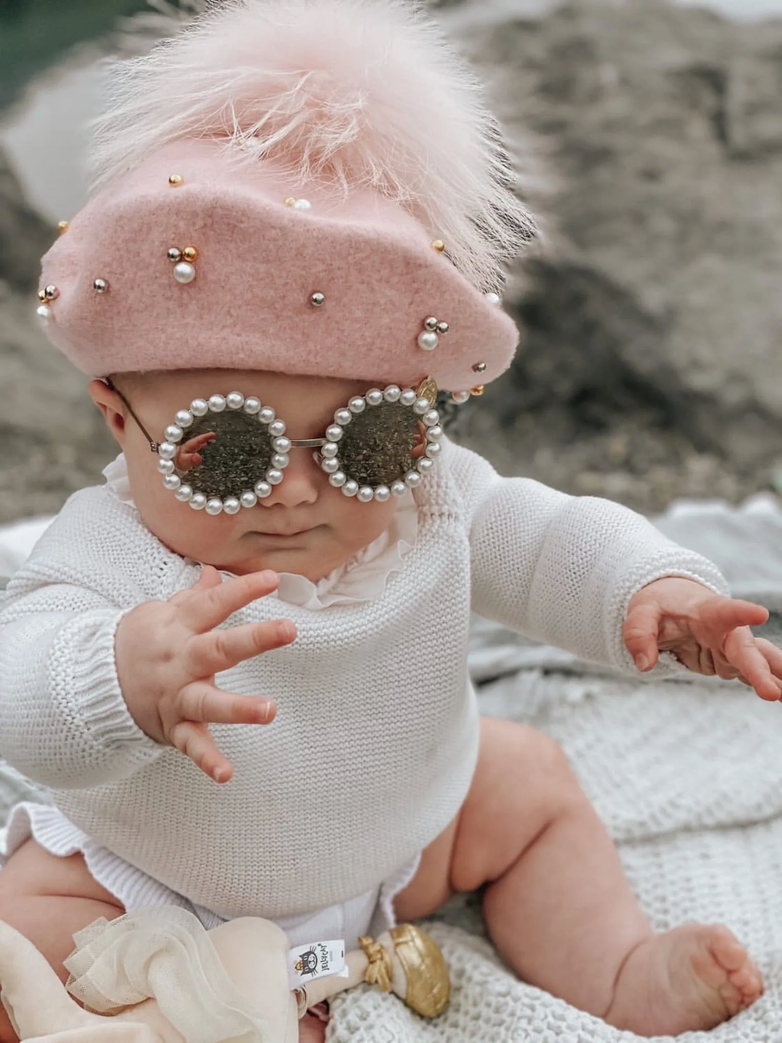
[[[95,194],[43,260],[51,341],[91,375],[465,391],[502,373],[518,335],[496,291],[534,224],[480,83],[425,14],[189,5],[109,76]]]

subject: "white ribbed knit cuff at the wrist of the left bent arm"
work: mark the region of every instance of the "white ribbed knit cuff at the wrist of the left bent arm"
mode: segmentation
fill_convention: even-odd
[[[50,683],[60,711],[94,747],[122,749],[144,762],[163,747],[139,728],[122,697],[114,642],[124,614],[120,609],[96,609],[62,627],[52,642]]]

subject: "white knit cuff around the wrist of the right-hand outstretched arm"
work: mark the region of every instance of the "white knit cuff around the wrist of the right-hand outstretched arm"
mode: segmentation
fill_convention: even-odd
[[[621,670],[628,670],[638,674],[638,668],[633,661],[633,657],[625,647],[624,625],[627,618],[630,602],[636,593],[655,580],[661,580],[674,576],[681,579],[694,580],[703,586],[708,587],[714,593],[730,595],[728,583],[723,574],[707,558],[695,554],[694,551],[687,551],[683,547],[671,543],[670,547],[660,548],[653,555],[632,560],[622,572],[618,582],[611,591],[611,599],[607,605],[606,626],[607,648],[611,651],[611,661],[613,665]],[[661,653],[658,664],[649,674],[643,676],[661,677],[679,674],[687,671],[687,668],[670,654]]]

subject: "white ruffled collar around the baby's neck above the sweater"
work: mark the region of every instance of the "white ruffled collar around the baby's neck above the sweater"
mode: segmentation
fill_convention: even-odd
[[[103,468],[103,476],[121,503],[136,507],[123,453]],[[408,490],[399,499],[388,529],[377,539],[317,583],[295,573],[280,573],[276,596],[288,605],[313,611],[332,605],[375,601],[386,589],[389,576],[401,569],[405,558],[415,547],[417,535],[418,508],[413,493]]]

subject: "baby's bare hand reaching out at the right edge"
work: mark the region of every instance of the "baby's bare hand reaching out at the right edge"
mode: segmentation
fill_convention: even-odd
[[[625,645],[638,670],[652,670],[658,651],[673,652],[698,674],[738,678],[774,701],[782,698],[782,651],[750,630],[767,618],[760,605],[670,576],[650,583],[630,602]]]

